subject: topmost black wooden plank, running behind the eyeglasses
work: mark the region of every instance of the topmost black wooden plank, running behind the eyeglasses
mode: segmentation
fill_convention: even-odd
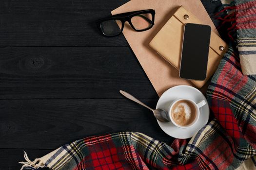
[[[128,46],[122,35],[101,36],[95,24],[97,19],[108,17],[110,11],[127,1],[1,0],[0,47]],[[210,16],[220,4],[202,2]]]

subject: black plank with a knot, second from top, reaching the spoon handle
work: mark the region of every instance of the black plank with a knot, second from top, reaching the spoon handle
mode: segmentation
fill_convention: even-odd
[[[0,99],[158,98],[129,47],[0,48]]]

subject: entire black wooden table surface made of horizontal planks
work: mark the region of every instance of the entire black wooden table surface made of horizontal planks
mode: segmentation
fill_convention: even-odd
[[[86,136],[136,131],[171,143],[153,114],[158,95],[123,35],[95,20],[128,0],[0,1],[0,170]],[[220,2],[202,0],[210,16]],[[139,34],[139,33],[138,33]]]

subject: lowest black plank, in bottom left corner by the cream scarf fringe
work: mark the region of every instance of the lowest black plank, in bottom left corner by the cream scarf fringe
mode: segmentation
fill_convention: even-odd
[[[38,149],[0,149],[0,169],[1,170],[20,170],[20,161],[25,161],[23,151],[29,156],[30,160],[35,160],[38,157],[44,156],[53,150],[38,150]],[[31,170],[31,169],[27,169]],[[44,169],[48,170],[48,169]]]

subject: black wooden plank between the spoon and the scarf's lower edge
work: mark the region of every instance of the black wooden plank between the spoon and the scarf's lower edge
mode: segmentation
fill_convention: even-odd
[[[157,100],[142,100],[152,108]],[[171,143],[153,113],[128,99],[0,100],[0,148],[55,149],[86,136],[141,132]]]

